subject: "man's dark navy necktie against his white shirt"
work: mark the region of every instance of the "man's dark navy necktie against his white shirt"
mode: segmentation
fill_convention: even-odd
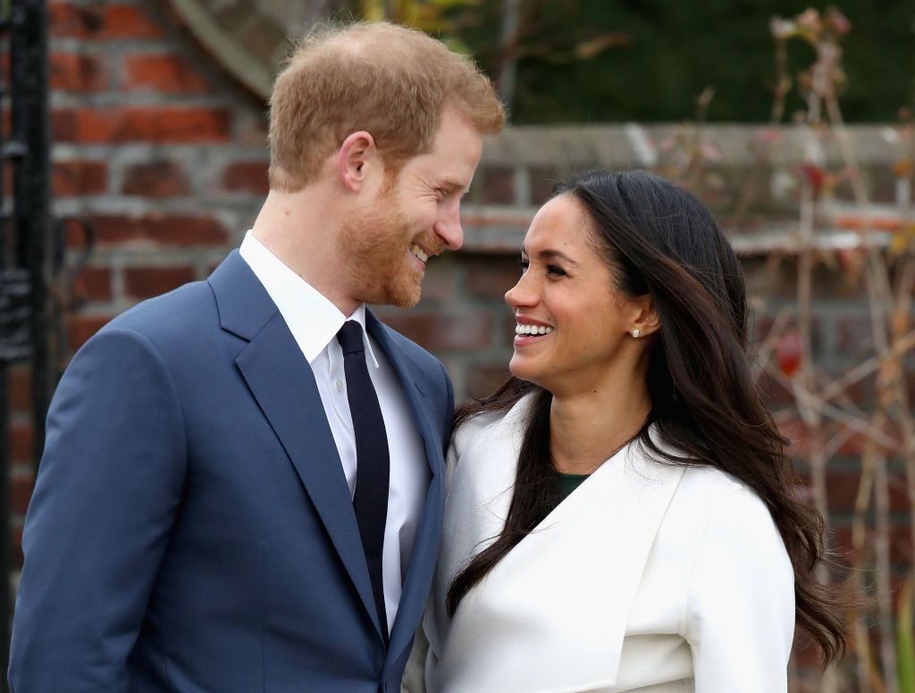
[[[351,320],[343,323],[337,333],[337,341],[343,350],[346,394],[350,400],[352,430],[356,436],[356,491],[352,505],[356,510],[362,549],[365,551],[365,561],[369,566],[371,592],[375,596],[379,623],[387,642],[388,620],[384,610],[382,549],[391,475],[388,436],[384,431],[382,408],[378,404],[378,396],[371,385],[369,368],[365,363],[362,325]]]

